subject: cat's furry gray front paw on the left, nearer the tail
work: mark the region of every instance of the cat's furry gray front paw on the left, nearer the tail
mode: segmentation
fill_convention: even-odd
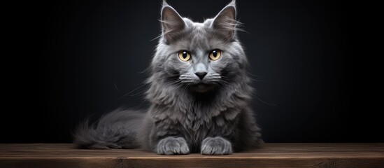
[[[157,144],[157,154],[160,155],[186,155],[188,153],[190,153],[190,148],[182,137],[166,137]]]

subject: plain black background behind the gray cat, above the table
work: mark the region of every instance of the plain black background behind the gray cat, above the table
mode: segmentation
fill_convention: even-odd
[[[229,1],[169,0],[202,22]],[[266,142],[384,142],[382,48],[362,4],[238,2],[252,102]],[[369,5],[374,6],[374,5]],[[143,109],[161,1],[49,1],[4,6],[0,143],[69,143],[87,117]],[[365,9],[364,12],[362,9]],[[375,64],[376,63],[376,64]],[[378,63],[378,64],[377,64]],[[378,96],[378,97],[377,97]]]

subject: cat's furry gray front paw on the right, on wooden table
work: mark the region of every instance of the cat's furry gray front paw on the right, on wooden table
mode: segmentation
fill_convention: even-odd
[[[202,155],[229,155],[232,153],[232,144],[222,137],[204,139],[201,145]]]

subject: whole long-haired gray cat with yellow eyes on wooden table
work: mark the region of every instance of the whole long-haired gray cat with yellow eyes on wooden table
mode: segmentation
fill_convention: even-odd
[[[236,36],[235,1],[192,22],[165,1],[162,36],[146,81],[146,111],[118,109],[78,127],[79,148],[143,148],[162,155],[227,155],[257,147],[248,60]]]

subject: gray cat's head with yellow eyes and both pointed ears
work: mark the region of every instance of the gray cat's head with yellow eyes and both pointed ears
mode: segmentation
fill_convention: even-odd
[[[241,80],[248,61],[236,36],[235,1],[202,23],[182,18],[164,1],[161,23],[162,35],[152,59],[159,79],[194,92]]]

